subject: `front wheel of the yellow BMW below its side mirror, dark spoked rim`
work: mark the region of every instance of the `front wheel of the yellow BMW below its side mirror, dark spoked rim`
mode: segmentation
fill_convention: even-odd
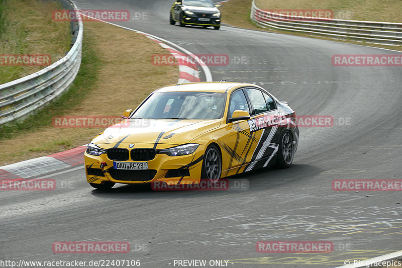
[[[208,178],[212,183],[216,183],[222,174],[222,155],[218,147],[210,145],[205,150],[201,178]]]

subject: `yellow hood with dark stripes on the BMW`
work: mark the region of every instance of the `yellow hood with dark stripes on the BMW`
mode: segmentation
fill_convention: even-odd
[[[92,143],[158,143],[180,145],[198,135],[218,128],[220,119],[171,120],[171,119],[126,119],[108,127],[96,136]]]

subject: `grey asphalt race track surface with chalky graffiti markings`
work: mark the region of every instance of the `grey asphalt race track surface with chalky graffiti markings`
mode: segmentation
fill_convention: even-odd
[[[64,188],[2,192],[2,259],[140,259],[141,267],[217,259],[229,260],[230,267],[335,267],[346,259],[400,250],[400,192],[331,188],[334,179],[401,178],[402,69],[331,64],[334,54],[397,52],[225,26],[219,31],[172,26],[171,1],[76,3],[80,9],[146,12],[146,19],[118,24],[192,53],[227,54],[231,64],[210,66],[215,81],[262,85],[297,115],[332,116],[334,126],[300,128],[291,168],[231,178],[249,180],[247,191],[153,192],[119,185],[104,192],[86,183],[79,166],[46,176]],[[347,125],[339,124],[346,119]],[[332,241],[335,249],[256,252],[255,243],[264,240]],[[54,254],[56,241],[127,241],[131,252]]]

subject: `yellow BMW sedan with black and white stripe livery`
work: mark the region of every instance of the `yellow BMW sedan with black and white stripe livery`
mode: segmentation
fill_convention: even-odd
[[[268,165],[286,168],[298,144],[294,111],[254,84],[167,85],[122,118],[87,146],[94,188],[216,183]]]

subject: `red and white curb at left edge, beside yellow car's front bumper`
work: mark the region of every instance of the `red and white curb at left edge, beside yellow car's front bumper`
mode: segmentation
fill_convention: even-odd
[[[22,180],[82,164],[86,145],[22,162],[0,166],[1,180]]]

